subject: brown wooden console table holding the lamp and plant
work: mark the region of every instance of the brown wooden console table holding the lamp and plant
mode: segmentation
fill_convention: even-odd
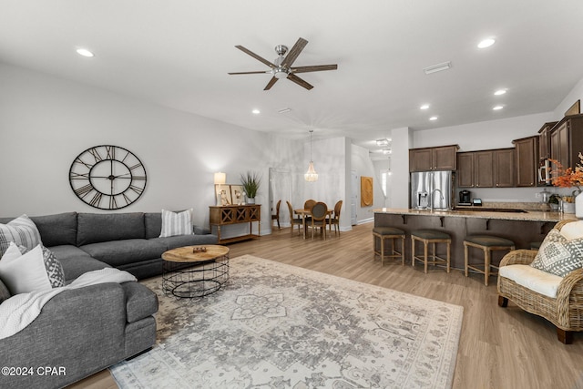
[[[213,226],[217,227],[217,236],[219,237],[220,244],[259,238],[261,234],[260,204],[211,206],[209,209],[210,230],[212,231]],[[257,234],[252,233],[253,221],[257,221]],[[249,234],[227,239],[220,238],[220,228],[222,226],[240,223],[249,223]]]

